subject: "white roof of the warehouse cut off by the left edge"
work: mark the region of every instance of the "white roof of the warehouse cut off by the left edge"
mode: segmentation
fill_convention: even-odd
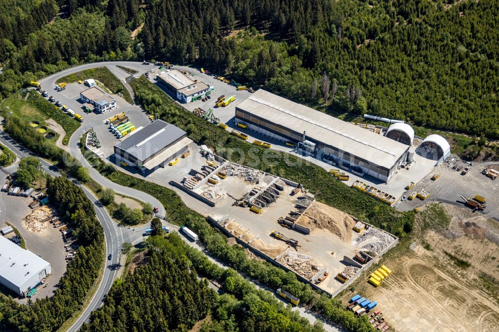
[[[21,287],[50,263],[0,236],[0,276]]]

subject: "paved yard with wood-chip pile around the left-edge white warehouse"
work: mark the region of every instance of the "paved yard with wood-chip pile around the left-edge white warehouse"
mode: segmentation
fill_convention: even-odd
[[[4,176],[2,180],[4,180]],[[22,226],[21,219],[31,213],[32,210],[28,207],[28,204],[32,201],[32,198],[9,196],[6,192],[1,192],[0,195],[0,199],[7,206],[4,221],[17,228],[26,243],[26,249],[42,256],[44,260],[50,263],[52,269],[52,273],[45,281],[46,287],[38,288],[36,295],[32,299],[52,296],[57,289],[56,285],[59,283],[59,279],[66,272],[66,251],[61,232],[59,232],[58,228],[53,228],[52,224],[48,222],[48,227],[40,233],[28,231]],[[5,223],[2,221],[1,227],[3,226],[5,226]],[[18,299],[18,301],[26,303],[27,298]]]

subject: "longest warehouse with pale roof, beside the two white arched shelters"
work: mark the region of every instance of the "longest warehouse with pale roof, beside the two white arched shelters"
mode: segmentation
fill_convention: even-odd
[[[259,89],[236,106],[236,122],[341,167],[388,181],[406,160],[409,146]]]

